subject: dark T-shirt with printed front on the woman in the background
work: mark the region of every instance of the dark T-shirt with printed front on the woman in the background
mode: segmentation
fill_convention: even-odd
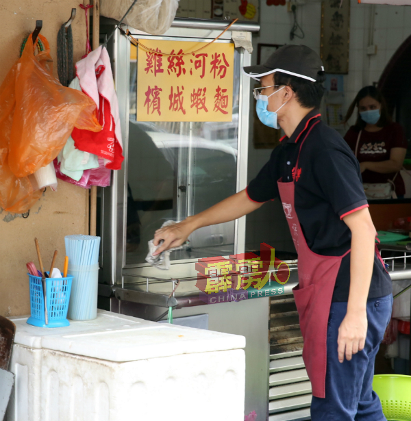
[[[348,143],[351,151],[356,152],[356,144],[360,129],[355,126],[349,128],[344,138]],[[379,131],[361,131],[360,140],[357,147],[357,158],[359,162],[380,162],[388,161],[390,159],[391,149],[405,148],[408,144],[404,136],[403,129],[398,123],[390,123]],[[395,178],[394,178],[395,177]],[[365,170],[362,173],[363,183],[387,183],[388,180],[393,180],[395,184],[395,192],[397,194],[405,194],[406,188],[401,174],[390,173],[382,174],[375,173],[375,171]]]

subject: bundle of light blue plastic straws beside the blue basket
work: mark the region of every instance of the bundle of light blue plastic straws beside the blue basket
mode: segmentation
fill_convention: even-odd
[[[100,238],[91,235],[66,235],[69,274],[73,275],[68,317],[92,320],[97,317]]]

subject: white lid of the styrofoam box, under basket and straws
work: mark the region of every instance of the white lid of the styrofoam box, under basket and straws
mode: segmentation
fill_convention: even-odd
[[[11,318],[16,324],[14,343],[47,348],[108,361],[168,357],[245,347],[245,337],[215,331],[160,324],[99,310],[97,319],[46,329]]]

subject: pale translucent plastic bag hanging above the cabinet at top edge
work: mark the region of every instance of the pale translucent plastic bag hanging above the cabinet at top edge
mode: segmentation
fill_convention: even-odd
[[[101,14],[120,21],[134,0],[101,0]],[[138,0],[124,23],[152,35],[166,32],[175,18],[178,0]]]

